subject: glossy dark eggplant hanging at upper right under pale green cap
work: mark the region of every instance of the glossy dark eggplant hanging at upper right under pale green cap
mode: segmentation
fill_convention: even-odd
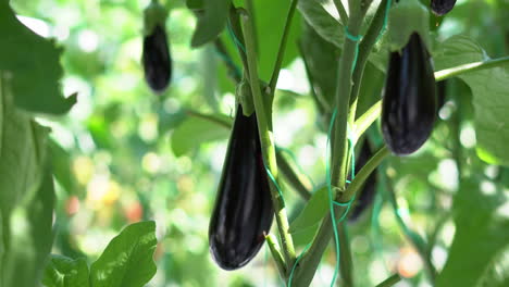
[[[431,58],[414,33],[401,53],[390,53],[382,100],[382,132],[393,153],[410,154],[424,145],[433,130],[436,101]]]

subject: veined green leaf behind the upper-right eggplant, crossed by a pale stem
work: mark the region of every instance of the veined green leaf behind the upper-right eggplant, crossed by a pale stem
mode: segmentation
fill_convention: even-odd
[[[484,50],[465,36],[444,41],[434,53],[436,70],[487,60]],[[492,164],[509,165],[509,73],[494,67],[459,76],[472,89],[477,155]]]

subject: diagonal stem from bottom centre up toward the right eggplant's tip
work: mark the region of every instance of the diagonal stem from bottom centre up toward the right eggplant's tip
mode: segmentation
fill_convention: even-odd
[[[368,178],[368,176],[382,163],[382,161],[389,154],[388,149],[386,147],[378,150],[373,158],[371,158],[365,165],[359,171],[356,178],[352,183],[348,186],[347,192],[345,194],[355,194],[361,186],[362,183]],[[340,202],[348,202],[348,200],[344,200]],[[344,212],[346,211],[346,207],[344,205],[335,205],[334,214],[336,215],[336,221],[343,216]],[[325,248],[331,240],[333,235],[333,226],[331,214],[327,213],[325,219],[323,220],[322,224],[320,225],[319,232],[316,236],[313,238],[313,242],[311,247],[305,252],[302,255],[301,261],[296,267],[295,271],[295,280],[293,284],[294,287],[297,286],[309,286],[311,280],[313,279],[314,273],[316,272],[318,265],[320,264],[320,260],[322,258]],[[345,252],[342,252],[345,253]]]

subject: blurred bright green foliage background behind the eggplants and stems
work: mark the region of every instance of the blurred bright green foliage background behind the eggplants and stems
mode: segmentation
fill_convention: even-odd
[[[254,2],[260,71],[268,80],[289,2]],[[170,89],[161,96],[148,89],[140,66],[142,9],[148,0],[14,0],[11,4],[25,16],[25,25],[45,37],[55,37],[64,48],[63,91],[78,95],[67,115],[38,118],[52,129],[57,179],[52,253],[92,262],[127,223],[154,220],[158,272],[148,286],[278,286],[265,248],[237,272],[220,270],[209,255],[208,221],[228,130],[193,114],[231,117],[234,85],[213,46],[190,49],[196,18],[185,3],[167,3],[174,74]],[[468,35],[492,58],[507,55],[508,16],[505,0],[458,1],[434,36],[444,40]],[[296,45],[308,26],[300,15],[294,23],[276,93],[275,140],[296,154],[297,165],[320,186],[325,174],[326,135],[320,128],[323,123],[309,96]],[[236,57],[228,34],[221,38]],[[383,77],[373,76],[370,83],[381,85]],[[473,269],[484,273],[479,274],[484,277],[482,284],[495,286],[493,282],[499,280],[504,286],[509,278],[505,272],[509,269],[509,171],[481,162],[475,153],[469,87],[452,80],[447,90],[433,138],[418,154],[388,161],[388,186],[397,195],[399,214],[412,229],[426,238],[436,233],[430,250],[433,262],[438,270],[444,265],[454,270],[439,282],[458,276],[456,262],[472,261]],[[376,129],[370,133],[376,134]],[[383,188],[386,186],[378,185]],[[284,189],[295,217],[303,202],[289,186]],[[500,214],[495,215],[494,209]],[[350,227],[359,286],[373,286],[395,271],[407,277],[398,286],[430,286],[423,263],[390,204],[382,205],[380,225],[372,224],[370,215]],[[495,250],[473,250],[494,238],[501,238]],[[305,239],[297,240],[300,248]],[[455,248],[449,249],[452,242]],[[328,285],[334,263],[334,254],[327,252],[315,286]]]

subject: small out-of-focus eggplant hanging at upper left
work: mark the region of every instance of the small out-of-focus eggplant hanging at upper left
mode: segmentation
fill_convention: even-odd
[[[144,38],[141,62],[149,87],[156,92],[166,89],[172,77],[172,58],[166,32],[161,25],[156,25],[152,33]]]

